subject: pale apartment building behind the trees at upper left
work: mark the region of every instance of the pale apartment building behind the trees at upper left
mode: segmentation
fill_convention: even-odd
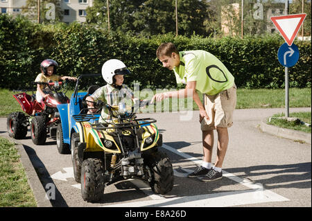
[[[0,12],[9,15],[21,14],[21,7],[26,6],[27,0],[0,0]],[[37,0],[35,0],[37,1]],[[73,21],[85,22],[86,9],[93,6],[94,0],[60,0],[62,21],[69,24]]]

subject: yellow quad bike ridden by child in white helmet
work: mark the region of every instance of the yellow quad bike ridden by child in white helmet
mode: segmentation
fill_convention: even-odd
[[[98,104],[98,103],[97,103]],[[155,193],[165,194],[173,188],[171,160],[162,147],[154,118],[137,118],[131,112],[101,104],[112,116],[98,123],[94,114],[73,115],[78,133],[71,136],[73,172],[81,183],[83,200],[97,202],[105,186],[121,179],[146,180]]]

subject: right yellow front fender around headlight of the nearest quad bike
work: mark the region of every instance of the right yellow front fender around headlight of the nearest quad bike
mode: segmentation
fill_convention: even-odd
[[[155,123],[144,125],[141,128],[144,129],[144,132],[141,134],[141,139],[143,140],[143,142],[141,143],[141,151],[148,150],[150,148],[155,147],[155,145],[158,146],[160,143],[162,143],[162,136],[160,136]],[[153,138],[153,143],[151,143],[150,145],[147,145],[146,139],[150,136]]]

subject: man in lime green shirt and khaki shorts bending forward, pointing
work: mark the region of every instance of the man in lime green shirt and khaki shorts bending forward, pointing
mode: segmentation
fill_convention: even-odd
[[[156,51],[163,67],[173,70],[177,83],[185,83],[185,89],[155,94],[154,101],[164,98],[186,98],[193,100],[200,110],[200,128],[204,157],[202,165],[188,177],[199,177],[203,182],[222,178],[222,164],[229,143],[227,127],[233,125],[236,106],[234,77],[225,65],[207,51],[177,51],[171,42],[161,44]],[[204,104],[197,94],[203,94]],[[214,146],[214,130],[218,133],[218,151],[214,166],[211,164]]]

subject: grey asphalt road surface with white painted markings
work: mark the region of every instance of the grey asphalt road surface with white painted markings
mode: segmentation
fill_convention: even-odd
[[[306,110],[311,108],[290,109]],[[58,154],[55,141],[34,145],[28,132],[16,142],[38,206],[311,206],[311,144],[281,137],[287,133],[263,132],[263,119],[279,112],[284,109],[234,112],[223,179],[210,183],[186,177],[202,159],[198,112],[191,112],[191,118],[183,112],[139,114],[157,119],[162,149],[175,170],[173,191],[155,195],[139,179],[125,180],[107,186],[96,204],[83,201],[80,184],[73,179],[71,155]],[[8,136],[6,118],[0,118],[0,136]],[[216,141],[214,153],[213,161]]]

